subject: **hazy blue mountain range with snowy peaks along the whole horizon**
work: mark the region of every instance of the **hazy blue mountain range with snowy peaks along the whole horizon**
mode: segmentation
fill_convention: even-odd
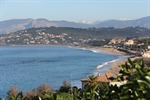
[[[83,22],[83,21],[82,21]],[[49,21],[47,19],[11,19],[6,21],[0,21],[0,34],[15,32],[18,30],[29,29],[32,27],[74,27],[74,28],[90,28],[90,27],[114,27],[114,28],[125,28],[125,27],[145,27],[150,28],[150,16],[143,17],[135,20],[107,20],[100,21],[96,24],[82,23],[82,22],[70,22],[70,21]],[[88,22],[86,20],[86,22]]]

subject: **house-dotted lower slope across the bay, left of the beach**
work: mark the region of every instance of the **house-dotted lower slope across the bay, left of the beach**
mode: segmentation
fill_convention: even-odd
[[[91,39],[77,39],[67,33],[46,33],[44,29],[31,33],[27,30],[0,36],[0,45],[85,45]]]

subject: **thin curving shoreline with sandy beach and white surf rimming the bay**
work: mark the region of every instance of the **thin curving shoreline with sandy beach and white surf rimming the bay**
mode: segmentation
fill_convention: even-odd
[[[91,50],[93,52],[101,52],[106,54],[112,54],[112,55],[118,55],[118,56],[129,56],[123,59],[114,59],[116,61],[108,61],[109,65],[98,65],[98,66],[109,66],[109,68],[104,73],[112,73],[112,74],[118,74],[119,73],[119,66],[122,64],[125,64],[127,62],[127,59],[132,57],[133,55],[129,55],[128,53],[121,52],[114,48],[104,48],[104,47],[90,47],[90,46],[67,46],[67,45],[9,45],[9,46],[64,46],[64,47],[71,47],[71,48],[77,48],[77,49],[83,49],[83,50]],[[134,59],[133,57],[132,59]],[[105,62],[104,62],[105,63]],[[96,66],[97,67],[97,66]],[[100,68],[99,68],[100,69]]]

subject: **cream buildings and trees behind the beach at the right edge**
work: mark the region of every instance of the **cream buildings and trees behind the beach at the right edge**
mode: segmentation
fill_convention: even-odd
[[[108,45],[105,47],[117,45],[117,48],[125,49],[133,53],[140,53],[142,57],[150,58],[150,44],[139,43],[137,38],[128,40],[126,38],[111,39]]]

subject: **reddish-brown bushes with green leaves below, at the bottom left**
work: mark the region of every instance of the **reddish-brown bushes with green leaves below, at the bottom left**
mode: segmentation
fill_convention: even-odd
[[[8,100],[53,100],[53,88],[46,83],[25,94],[22,91],[18,91],[16,87],[11,87],[7,94]]]

